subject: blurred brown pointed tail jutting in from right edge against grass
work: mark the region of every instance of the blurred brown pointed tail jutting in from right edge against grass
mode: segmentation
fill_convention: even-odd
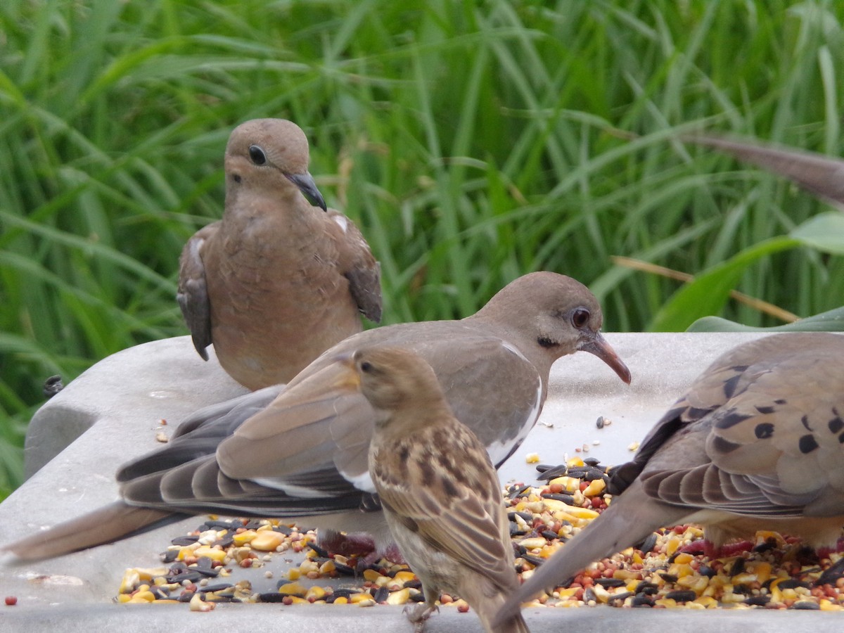
[[[760,165],[785,176],[800,187],[839,207],[844,205],[844,160],[803,149],[778,147],[738,138],[688,135],[683,140],[718,149],[739,160]]]

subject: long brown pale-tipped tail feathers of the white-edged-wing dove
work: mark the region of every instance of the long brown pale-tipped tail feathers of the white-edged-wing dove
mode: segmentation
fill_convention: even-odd
[[[43,532],[3,545],[0,551],[11,552],[20,560],[50,558],[111,543],[158,527],[156,524],[174,522],[182,517],[184,515],[115,501]]]

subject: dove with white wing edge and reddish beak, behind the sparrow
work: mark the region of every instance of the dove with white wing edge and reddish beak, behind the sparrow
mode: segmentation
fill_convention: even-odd
[[[267,387],[186,420],[165,447],[118,471],[122,501],[39,533],[40,544],[5,549],[29,558],[78,549],[79,526],[90,528],[100,517],[120,523],[129,506],[162,511],[149,521],[175,511],[307,517],[323,532],[360,531],[388,544],[381,512],[360,512],[375,493],[367,464],[373,409],[349,385],[338,354],[387,345],[422,356],[454,414],[484,443],[497,468],[536,422],[555,360],[587,351],[630,381],[630,371],[601,336],[602,321],[598,301],[584,285],[544,272],[516,279],[462,321],[356,334],[286,387]],[[123,528],[137,527],[126,522]],[[112,527],[111,538],[116,532]]]

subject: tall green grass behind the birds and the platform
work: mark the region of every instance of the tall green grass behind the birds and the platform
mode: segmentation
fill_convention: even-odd
[[[842,19],[835,0],[4,0],[0,489],[46,377],[187,333],[179,252],[219,218],[250,118],[306,130],[387,323],[466,316],[537,269],[588,284],[609,331],[777,323],[723,278],[667,317],[680,283],[613,256],[706,279],[749,253],[729,287],[841,306],[841,257],[788,237],[830,209],[677,138],[840,155]]]

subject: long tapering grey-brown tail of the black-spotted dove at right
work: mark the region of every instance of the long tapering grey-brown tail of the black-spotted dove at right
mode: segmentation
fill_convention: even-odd
[[[624,495],[614,499],[600,517],[546,560],[522,587],[507,598],[504,607],[493,619],[493,625],[516,614],[521,603],[545,589],[565,582],[596,560],[640,543],[654,530],[672,526],[688,514],[688,509],[675,509],[648,499],[639,490],[638,481],[634,482]]]

